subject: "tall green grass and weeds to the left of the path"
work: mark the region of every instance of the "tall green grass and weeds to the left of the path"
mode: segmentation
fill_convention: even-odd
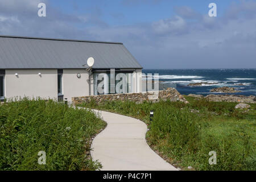
[[[95,170],[90,138],[105,127],[91,111],[24,98],[0,105],[0,170]],[[46,165],[38,152],[46,152]]]

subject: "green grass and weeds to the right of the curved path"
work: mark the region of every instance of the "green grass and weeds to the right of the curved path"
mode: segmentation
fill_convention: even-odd
[[[97,105],[92,101],[82,106],[146,122],[150,129],[146,135],[148,144],[183,169],[256,170],[256,104],[250,104],[253,110],[245,113],[234,109],[237,103],[186,98],[189,104],[112,101]],[[152,122],[150,110],[154,110]],[[209,165],[209,151],[217,152],[216,165]]]

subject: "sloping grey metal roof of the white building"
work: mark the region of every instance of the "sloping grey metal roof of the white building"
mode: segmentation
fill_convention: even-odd
[[[122,43],[0,35],[0,69],[142,68]]]

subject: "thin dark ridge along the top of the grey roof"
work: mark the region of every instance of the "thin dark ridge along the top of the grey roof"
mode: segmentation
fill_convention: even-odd
[[[56,39],[56,38],[38,38],[29,36],[14,36],[14,35],[0,35],[1,38],[20,38],[20,39],[38,39],[38,40],[59,40],[69,42],[89,42],[89,43],[105,43],[105,44],[123,44],[121,42],[105,42],[105,41],[93,41],[93,40],[77,40],[77,39]]]

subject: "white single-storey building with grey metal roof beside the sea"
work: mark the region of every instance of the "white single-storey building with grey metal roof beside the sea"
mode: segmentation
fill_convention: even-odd
[[[86,71],[89,57],[95,60],[91,73]],[[110,81],[98,79],[100,73],[110,75],[110,69],[115,69],[115,75],[125,73],[132,78],[127,79],[123,92],[142,92],[142,66],[122,43],[0,36],[0,100],[71,101],[72,97],[96,95],[100,81],[110,88]]]

